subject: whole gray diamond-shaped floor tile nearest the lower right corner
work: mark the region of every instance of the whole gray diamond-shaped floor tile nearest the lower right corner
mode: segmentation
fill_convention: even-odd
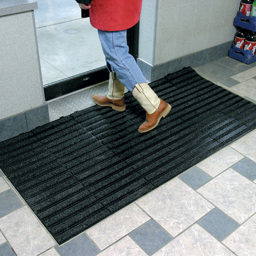
[[[210,211],[198,221],[198,224],[219,241],[222,241],[239,227],[239,224],[236,221],[229,218],[218,208]]]

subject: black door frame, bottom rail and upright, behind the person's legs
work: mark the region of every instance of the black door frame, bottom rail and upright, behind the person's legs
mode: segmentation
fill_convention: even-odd
[[[127,29],[127,45],[129,52],[135,59],[139,49],[139,23]],[[106,67],[98,68],[76,76],[49,83],[44,86],[46,101],[63,96],[68,93],[81,90],[109,79],[109,71]]]

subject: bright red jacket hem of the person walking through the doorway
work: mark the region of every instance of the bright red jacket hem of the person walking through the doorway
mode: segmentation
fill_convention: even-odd
[[[86,3],[87,0],[76,1]],[[91,24],[105,31],[129,29],[139,22],[141,5],[142,0],[92,0]]]

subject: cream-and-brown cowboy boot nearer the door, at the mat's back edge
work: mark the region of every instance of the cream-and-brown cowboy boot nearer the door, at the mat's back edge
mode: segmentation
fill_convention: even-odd
[[[109,92],[107,95],[94,94],[92,96],[94,103],[100,106],[111,106],[113,110],[125,111],[124,104],[124,85],[119,81],[116,73],[110,73]]]

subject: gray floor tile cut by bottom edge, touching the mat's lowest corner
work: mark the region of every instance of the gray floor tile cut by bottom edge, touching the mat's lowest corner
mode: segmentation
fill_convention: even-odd
[[[56,246],[61,256],[94,256],[100,252],[86,234],[80,234],[67,244]]]

